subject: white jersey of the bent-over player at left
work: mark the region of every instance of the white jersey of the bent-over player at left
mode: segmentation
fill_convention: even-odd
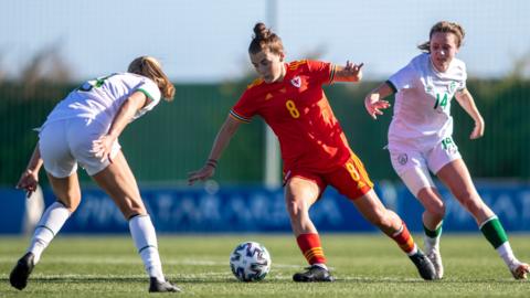
[[[135,92],[149,97],[149,104],[135,115],[135,119],[151,110],[160,102],[160,89],[150,78],[131,73],[116,73],[87,81],[61,100],[47,116],[47,123],[89,118],[110,126],[124,102]]]

